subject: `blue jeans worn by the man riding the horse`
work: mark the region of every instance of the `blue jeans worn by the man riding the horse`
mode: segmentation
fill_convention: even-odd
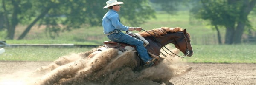
[[[128,34],[124,34],[120,32],[118,34],[114,33],[114,34],[108,35],[108,39],[115,42],[122,42],[130,45],[135,45],[140,58],[144,62],[147,62],[152,59],[151,57],[149,57],[147,49],[143,46],[144,42],[137,38],[134,38]]]

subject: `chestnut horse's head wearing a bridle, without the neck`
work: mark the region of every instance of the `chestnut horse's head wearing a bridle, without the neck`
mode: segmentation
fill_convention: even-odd
[[[186,32],[186,29],[183,30],[183,36],[177,37],[174,43],[175,47],[180,49],[186,56],[191,57],[193,55],[193,49],[190,44],[190,35]]]

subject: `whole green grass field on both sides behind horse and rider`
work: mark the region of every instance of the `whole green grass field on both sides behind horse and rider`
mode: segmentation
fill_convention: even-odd
[[[157,19],[148,20],[140,25],[145,30],[160,27],[181,27],[186,28],[191,34],[191,44],[194,55],[184,60],[193,63],[256,63],[256,45],[217,45],[216,31],[207,26],[207,22],[200,20],[189,20],[187,11],[180,11],[176,15],[159,13]],[[15,38],[25,29],[19,26]],[[137,32],[137,31],[134,31]],[[0,35],[3,32],[0,32]],[[221,34],[224,37],[224,28]],[[224,39],[224,38],[222,38]],[[3,39],[0,39],[3,40]],[[6,40],[7,44],[81,44],[81,45],[102,45],[108,40],[103,34],[101,26],[84,27],[72,31],[60,33],[54,39],[44,33],[43,28],[32,28],[24,40]],[[58,57],[88,51],[92,48],[75,47],[4,47],[6,52],[0,54],[0,61],[54,61]],[[182,54],[180,54],[182,55]]]

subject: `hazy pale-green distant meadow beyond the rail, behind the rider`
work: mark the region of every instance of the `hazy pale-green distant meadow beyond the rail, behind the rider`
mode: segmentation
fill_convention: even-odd
[[[170,15],[164,12],[157,12],[157,18],[147,20],[144,24],[141,24],[145,30],[151,30],[160,27],[181,27],[186,28],[191,34],[192,45],[216,45],[218,40],[216,38],[216,31],[212,30],[211,26],[207,26],[207,22],[201,20],[188,20],[188,11],[179,11],[177,15]],[[256,18],[251,16],[250,20],[255,21]],[[122,22],[122,21],[121,21]],[[127,24],[127,23],[124,23]],[[255,27],[255,24],[253,24]],[[18,29],[23,30],[22,26]],[[138,31],[133,31],[134,33]],[[225,30],[220,30],[221,37],[224,39]],[[3,32],[4,33],[4,32]],[[16,37],[19,35],[17,31]],[[72,31],[64,31],[55,36],[55,39],[47,36],[44,32],[44,28],[33,28],[31,32],[23,40],[7,40],[7,43],[17,44],[61,44],[72,43],[82,45],[102,45],[103,41],[108,38],[103,34],[102,26],[88,27],[84,26],[80,29],[73,29]],[[247,40],[244,38],[244,40]],[[245,42],[244,42],[245,43]]]

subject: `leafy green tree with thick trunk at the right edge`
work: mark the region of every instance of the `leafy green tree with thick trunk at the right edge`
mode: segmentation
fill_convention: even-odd
[[[256,0],[200,0],[191,13],[196,18],[209,20],[212,26],[226,28],[225,44],[241,43],[244,28],[250,27],[247,16],[256,6]],[[217,28],[218,30],[218,28]]]

